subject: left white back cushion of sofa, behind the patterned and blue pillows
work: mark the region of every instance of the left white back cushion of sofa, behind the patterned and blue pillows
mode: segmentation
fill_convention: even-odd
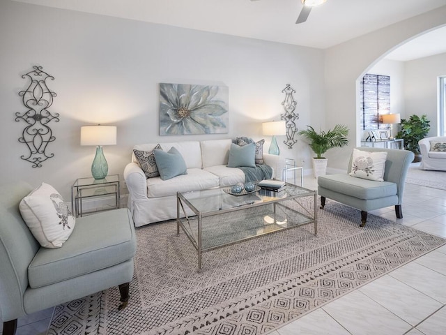
[[[198,141],[185,141],[185,142],[156,142],[156,143],[146,143],[146,144],[137,144],[133,147],[136,150],[142,151],[152,151],[155,149],[157,144],[160,143],[161,148],[164,151],[169,151],[171,147],[175,147],[183,156],[184,161],[186,163],[186,168],[188,169],[201,169],[201,149],[200,142]],[[132,162],[138,163],[137,158],[132,154]]]

